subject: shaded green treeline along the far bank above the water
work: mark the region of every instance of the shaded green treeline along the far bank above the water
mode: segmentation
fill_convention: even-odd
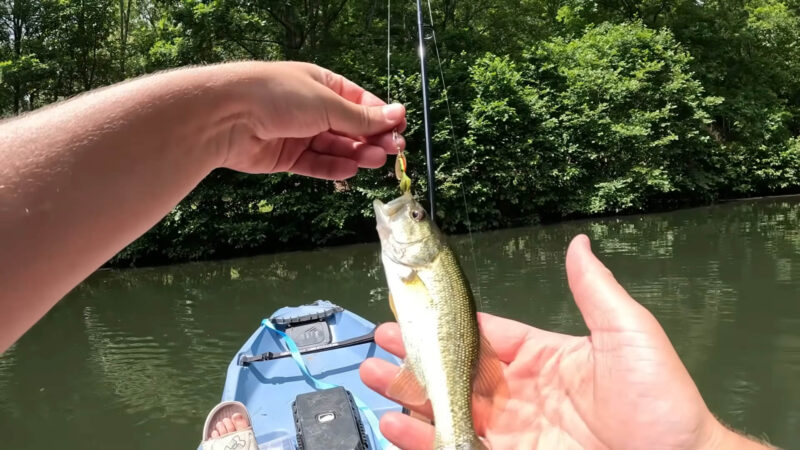
[[[440,222],[463,231],[794,192],[796,0],[435,0]],[[392,2],[392,97],[424,185],[414,2]],[[386,95],[375,0],[0,0],[0,111],[237,59],[318,63]],[[117,264],[372,238],[386,170],[343,183],[217,171]],[[465,194],[466,201],[462,197]],[[465,207],[466,204],[466,207]]]

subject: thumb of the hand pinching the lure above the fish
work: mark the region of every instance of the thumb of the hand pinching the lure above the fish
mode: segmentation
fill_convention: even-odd
[[[406,109],[399,103],[371,106],[335,94],[326,97],[325,110],[331,130],[350,137],[374,136],[399,128],[406,117]]]

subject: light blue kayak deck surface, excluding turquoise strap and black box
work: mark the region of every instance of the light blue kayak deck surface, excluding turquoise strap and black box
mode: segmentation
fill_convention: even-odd
[[[319,306],[318,311],[324,309],[326,312],[315,314],[313,307],[316,306]],[[325,314],[326,317],[321,317]],[[344,387],[366,403],[378,417],[388,411],[402,410],[399,404],[364,385],[358,373],[366,358],[376,357],[395,364],[400,362],[369,339],[374,324],[321,301],[303,307],[282,308],[272,315],[271,320],[279,330],[288,331],[297,341],[312,376]],[[356,340],[358,337],[365,339]],[[339,346],[342,343],[346,346]],[[292,403],[298,394],[315,391],[288,351],[283,339],[262,324],[228,366],[222,400],[237,400],[245,404],[260,449],[294,449],[297,446]],[[257,359],[254,357],[258,355],[274,359],[248,362]],[[361,416],[368,439],[374,444],[367,420],[363,414]]]

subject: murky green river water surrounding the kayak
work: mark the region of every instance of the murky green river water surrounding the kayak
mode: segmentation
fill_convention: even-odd
[[[800,448],[800,199],[566,222],[453,239],[484,311],[584,333],[569,240],[661,321],[711,410]],[[474,267],[477,267],[477,273]],[[390,320],[377,244],[103,270],[0,356],[0,448],[196,448],[225,369],[265,315],[329,299]]]

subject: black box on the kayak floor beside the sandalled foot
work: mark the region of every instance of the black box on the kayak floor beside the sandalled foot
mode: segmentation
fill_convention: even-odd
[[[300,450],[366,450],[364,424],[343,387],[300,394],[292,403]]]

